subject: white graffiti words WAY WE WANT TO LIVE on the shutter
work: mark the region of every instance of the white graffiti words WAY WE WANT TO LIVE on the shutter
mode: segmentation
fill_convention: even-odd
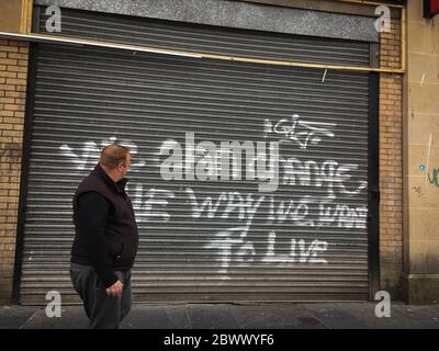
[[[264,204],[268,204],[269,207],[266,217],[269,225],[289,220],[295,226],[362,229],[367,227],[368,211],[365,206],[350,207],[342,204],[334,204],[333,206],[327,203],[319,204],[319,217],[314,220],[308,217],[308,204],[314,202],[312,199],[305,197],[296,202],[293,200],[275,201],[273,195],[254,197],[251,193],[243,195],[236,191],[223,191],[216,197],[196,199],[191,188],[187,188],[185,192],[193,218],[235,219],[234,224],[240,224],[218,230],[214,239],[210,240],[204,247],[218,250],[221,257],[219,273],[225,279],[232,261],[238,265],[250,264],[254,261],[255,247],[247,239],[247,234],[258,210],[266,208]],[[326,241],[314,240],[306,247],[303,239],[292,239],[291,252],[288,257],[274,254],[274,241],[275,233],[270,230],[267,254],[263,259],[266,263],[327,263],[325,259],[317,258],[319,252],[327,249]]]

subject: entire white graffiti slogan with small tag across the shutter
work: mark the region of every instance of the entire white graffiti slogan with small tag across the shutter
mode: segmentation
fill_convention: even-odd
[[[323,228],[348,233],[367,229],[368,208],[358,196],[367,190],[367,181],[359,178],[365,170],[349,161],[305,158],[304,152],[335,136],[335,127],[334,123],[304,121],[293,114],[264,121],[264,137],[273,141],[196,140],[194,132],[184,131],[183,139],[159,141],[153,154],[157,157],[157,173],[153,176],[140,157],[145,150],[115,136],[64,144],[60,152],[74,169],[86,171],[98,162],[104,146],[114,141],[128,146],[136,177],[126,191],[137,222],[160,223],[172,229],[185,220],[194,227],[198,222],[211,223],[212,233],[209,238],[201,237],[200,244],[206,252],[215,252],[217,273],[227,280],[233,268],[254,263],[327,264],[328,241],[297,235],[297,228],[304,228],[303,233],[313,228],[315,234]],[[296,146],[300,154],[280,156],[279,147],[284,143]],[[143,174],[148,179],[140,178]],[[147,186],[149,177],[153,184]],[[438,172],[432,173],[430,182],[437,183],[438,177]],[[206,185],[198,183],[206,181],[240,181],[244,188],[207,188],[205,193]],[[257,186],[248,188],[244,181]],[[170,182],[172,190],[167,189]],[[279,186],[283,192],[277,194]],[[290,228],[295,230],[290,233]]]

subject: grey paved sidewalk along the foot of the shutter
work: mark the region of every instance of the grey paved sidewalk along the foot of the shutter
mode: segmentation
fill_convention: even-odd
[[[439,329],[439,305],[392,303],[134,304],[121,329]],[[0,329],[85,329],[82,306],[49,318],[42,306],[0,306]]]

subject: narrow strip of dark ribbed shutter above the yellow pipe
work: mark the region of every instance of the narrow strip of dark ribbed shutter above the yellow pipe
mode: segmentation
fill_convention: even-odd
[[[46,33],[48,15],[41,10],[38,29]],[[369,66],[369,43],[233,30],[63,9],[63,31],[52,35],[147,45],[161,48],[294,60]]]

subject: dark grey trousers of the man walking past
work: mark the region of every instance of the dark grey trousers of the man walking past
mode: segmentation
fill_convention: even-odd
[[[131,310],[131,270],[115,271],[114,273],[124,285],[122,296],[108,295],[92,267],[70,264],[71,282],[83,302],[91,329],[117,329],[119,324]]]

